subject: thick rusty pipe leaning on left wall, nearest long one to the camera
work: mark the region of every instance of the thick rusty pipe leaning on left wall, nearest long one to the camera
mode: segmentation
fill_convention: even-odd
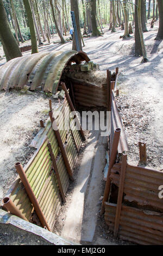
[[[20,176],[20,179],[21,179],[21,181],[22,181],[22,183],[23,183],[23,185],[24,185],[24,187],[26,189],[26,192],[27,192],[27,194],[29,196],[29,199],[30,199],[30,201],[32,202],[32,204],[34,206],[35,212],[36,212],[37,216],[39,217],[39,220],[40,220],[40,222],[42,224],[42,227],[44,228],[46,226],[47,229],[49,231],[51,231],[51,229],[49,228],[49,225],[48,225],[48,223],[46,221],[46,218],[43,215],[43,212],[42,212],[42,210],[40,208],[40,205],[37,202],[37,199],[36,199],[35,194],[34,194],[34,192],[32,190],[32,187],[29,184],[29,181],[27,179],[26,173],[23,170],[22,165],[20,163],[16,163],[15,164],[15,168],[16,168],[17,173]]]

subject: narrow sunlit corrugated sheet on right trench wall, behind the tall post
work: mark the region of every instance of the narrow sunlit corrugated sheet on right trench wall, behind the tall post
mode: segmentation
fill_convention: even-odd
[[[111,148],[112,148],[112,141],[114,137],[114,131],[117,128],[121,129],[120,142],[118,144],[118,154],[122,154],[124,151],[128,151],[128,143],[127,143],[126,133],[123,128],[122,119],[120,117],[120,114],[118,113],[115,95],[112,92],[111,94],[111,133],[110,133],[110,143],[109,143],[110,154],[111,154]]]

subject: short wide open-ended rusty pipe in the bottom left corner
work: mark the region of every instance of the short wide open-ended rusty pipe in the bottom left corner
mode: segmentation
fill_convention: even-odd
[[[16,215],[17,217],[22,218],[24,221],[28,221],[9,197],[4,197],[2,202],[3,206],[10,212],[10,214]]]

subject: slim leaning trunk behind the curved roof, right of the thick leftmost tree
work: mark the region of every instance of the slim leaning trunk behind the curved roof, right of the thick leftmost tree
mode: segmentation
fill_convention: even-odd
[[[35,28],[34,28],[34,21],[32,16],[32,10],[30,8],[29,0],[23,0],[24,7],[26,9],[27,17],[28,17],[28,24],[30,29],[30,40],[32,44],[32,54],[38,52],[37,47],[37,40],[36,40],[36,34],[35,34]]]

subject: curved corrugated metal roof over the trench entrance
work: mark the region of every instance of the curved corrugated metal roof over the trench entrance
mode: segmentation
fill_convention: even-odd
[[[45,92],[57,92],[58,84],[67,64],[90,59],[82,51],[53,51],[35,53],[30,56],[11,59],[0,67],[0,89],[22,88],[31,90],[42,86]]]

